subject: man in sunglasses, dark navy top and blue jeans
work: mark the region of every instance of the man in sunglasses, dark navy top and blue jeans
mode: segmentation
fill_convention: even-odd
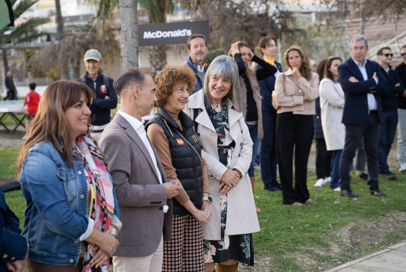
[[[381,137],[379,138],[379,173],[387,180],[396,180],[395,173],[389,171],[387,158],[395,138],[397,125],[396,96],[404,92],[403,83],[396,71],[392,70],[389,64],[392,62],[392,50],[390,47],[383,47],[377,52],[381,72],[388,82],[388,91],[381,93],[382,119]]]

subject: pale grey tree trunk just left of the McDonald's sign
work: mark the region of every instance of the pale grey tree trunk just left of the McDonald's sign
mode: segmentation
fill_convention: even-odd
[[[120,0],[123,70],[138,65],[138,0]]]

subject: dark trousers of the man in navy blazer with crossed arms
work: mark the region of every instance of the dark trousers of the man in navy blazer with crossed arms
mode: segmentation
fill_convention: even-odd
[[[340,158],[340,188],[350,188],[351,163],[359,142],[363,138],[368,167],[368,185],[370,189],[379,186],[379,137],[381,123],[378,113],[369,114],[364,124],[346,124],[346,140]]]

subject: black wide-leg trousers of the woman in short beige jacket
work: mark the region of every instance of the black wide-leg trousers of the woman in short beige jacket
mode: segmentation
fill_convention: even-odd
[[[314,124],[312,115],[280,113],[276,123],[279,177],[284,204],[304,203],[309,199],[307,167],[312,146]],[[293,149],[295,184],[293,186]]]

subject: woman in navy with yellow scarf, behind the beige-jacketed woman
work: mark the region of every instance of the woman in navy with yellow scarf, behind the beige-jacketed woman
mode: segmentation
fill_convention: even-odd
[[[275,127],[277,111],[272,105],[272,92],[275,90],[275,81],[279,73],[282,72],[281,63],[275,61],[275,56],[278,50],[278,43],[275,38],[266,36],[262,37],[255,51],[262,53],[262,59],[267,63],[275,66],[278,70],[270,77],[259,80],[259,92],[262,96],[262,126],[263,138],[261,140],[261,176],[263,181],[263,189],[268,191],[280,191],[281,185],[276,180],[278,159],[276,155],[275,144]],[[256,64],[257,69],[262,69],[262,66]]]

